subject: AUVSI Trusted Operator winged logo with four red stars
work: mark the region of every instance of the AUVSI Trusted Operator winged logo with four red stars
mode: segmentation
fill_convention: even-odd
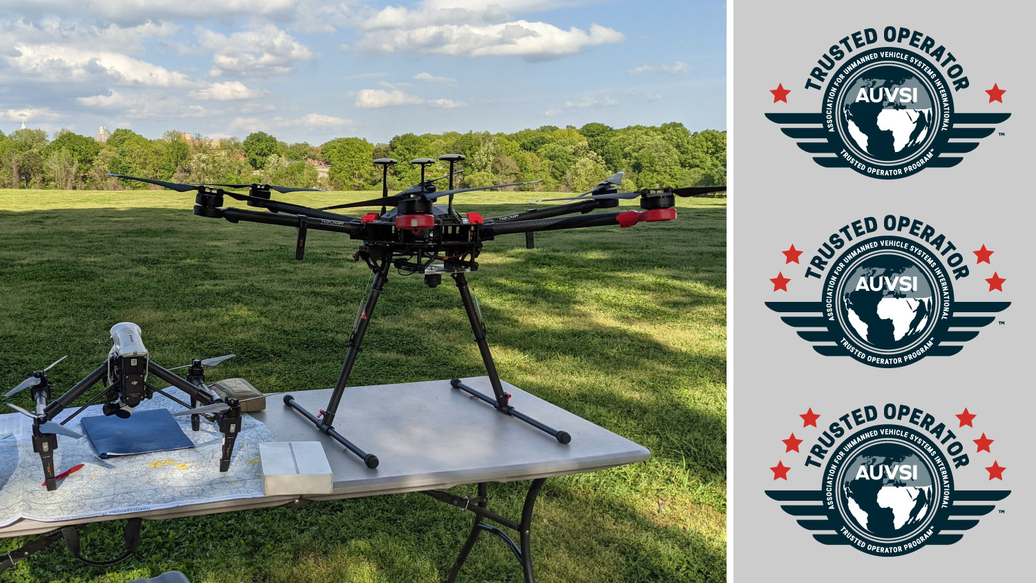
[[[783,252],[799,263],[802,252]],[[825,356],[852,356],[873,367],[902,367],[925,356],[949,356],[992,323],[989,314],[1009,301],[958,301],[954,282],[971,274],[965,254],[946,234],[922,221],[887,214],[865,216],[832,233],[806,265],[819,301],[768,301],[781,320]],[[985,244],[972,252],[990,264]],[[774,291],[788,291],[783,271]],[[988,291],[1003,293],[1007,280],[994,271]]]

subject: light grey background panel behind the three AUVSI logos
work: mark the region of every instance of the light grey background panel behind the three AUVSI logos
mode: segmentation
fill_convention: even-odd
[[[1026,4],[924,2],[733,2],[730,141],[732,261],[730,286],[730,415],[732,460],[728,509],[728,557],[736,583],[794,574],[802,583],[871,581],[879,574],[897,579],[985,581],[997,565],[1003,581],[1019,581],[1030,571],[1031,525],[1036,497],[1031,412],[1032,326],[1030,290],[1033,115],[1029,95],[1034,78],[1019,43],[1032,33]],[[998,132],[980,140],[959,166],[928,168],[914,176],[880,180],[851,169],[826,169],[781,133],[764,114],[821,112],[822,92],[804,89],[811,67],[832,45],[864,28],[910,27],[945,45],[965,68],[971,87],[953,94],[962,113],[1010,112]],[[884,45],[883,45],[884,46]],[[904,46],[912,51],[915,48]],[[945,68],[941,67],[945,71]],[[787,104],[773,103],[778,83],[792,92]],[[992,84],[1007,89],[1004,103],[989,104]],[[950,357],[928,356],[900,369],[876,369],[845,357],[817,354],[796,330],[780,321],[766,301],[819,301],[821,286],[804,275],[809,259],[828,235],[848,222],[888,213],[918,218],[953,240],[972,274],[954,282],[956,299],[1004,300],[998,315],[1005,325],[981,329],[978,338]],[[781,251],[803,251],[800,264],[785,263]],[[985,244],[992,264],[976,264],[973,250]],[[787,292],[773,291],[778,271],[792,281]],[[984,278],[1007,278],[1004,292],[989,292]],[[1012,494],[997,511],[981,517],[947,546],[928,545],[901,557],[876,557],[847,546],[824,546],[814,532],[796,524],[769,489],[819,489],[821,471],[805,467],[805,454],[786,453],[780,440],[816,442],[821,429],[803,428],[807,408],[822,416],[822,429],[857,407],[886,403],[919,407],[952,424],[971,456],[971,467],[953,472],[955,487],[1004,489]],[[968,407],[974,429],[958,428]],[[912,426],[913,427],[913,426]],[[992,453],[976,453],[971,440],[986,433]],[[1004,480],[989,482],[983,469],[998,460]],[[774,480],[769,469],[781,461],[792,467],[788,480]],[[1000,514],[1003,509],[1004,514]],[[790,575],[786,576],[790,577]],[[1029,576],[1031,578],[1031,576]],[[777,577],[781,579],[780,576]]]

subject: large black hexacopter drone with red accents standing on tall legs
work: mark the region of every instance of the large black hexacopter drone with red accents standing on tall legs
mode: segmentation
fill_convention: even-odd
[[[453,278],[460,291],[461,301],[467,312],[474,340],[482,353],[482,359],[489,375],[493,395],[485,395],[459,379],[453,379],[451,385],[481,399],[494,407],[500,413],[516,417],[537,429],[553,436],[560,443],[569,443],[572,439],[568,432],[548,427],[537,419],[518,411],[510,404],[511,395],[503,391],[496,366],[486,342],[486,327],[482,320],[482,311],[467,286],[465,273],[479,268],[476,261],[486,241],[500,235],[524,233],[528,249],[534,247],[534,233],[538,231],[555,231],[560,229],[576,229],[582,227],[606,227],[618,225],[627,228],[637,223],[653,223],[672,221],[677,217],[675,197],[702,196],[709,193],[726,191],[726,186],[691,186],[683,188],[645,188],[642,191],[620,193],[623,173],[616,173],[602,180],[593,188],[573,197],[559,199],[544,199],[530,202],[558,202],[544,208],[530,209],[502,216],[484,217],[478,212],[461,214],[453,208],[454,195],[474,191],[519,186],[535,182],[516,182],[510,184],[494,184],[470,188],[454,188],[454,177],[459,173],[455,165],[464,159],[463,154],[443,154],[439,161],[450,164],[450,172],[433,179],[425,179],[426,168],[435,161],[432,158],[415,158],[410,164],[421,166],[421,182],[401,193],[388,196],[386,181],[388,167],[398,164],[393,158],[378,158],[374,164],[382,170],[381,198],[359,202],[338,204],[322,208],[276,201],[270,192],[290,193],[296,191],[315,191],[315,188],[294,188],[271,186],[269,184],[180,184],[148,178],[138,178],[121,174],[109,174],[117,178],[138,180],[156,184],[180,193],[196,192],[194,213],[210,218],[225,218],[231,223],[241,221],[281,225],[297,229],[295,259],[301,260],[306,250],[306,236],[310,229],[343,233],[352,239],[362,241],[359,250],[353,254],[355,261],[363,260],[374,272],[374,281],[367,300],[356,312],[352,334],[349,337],[349,350],[342,370],[335,383],[330,400],[325,409],[314,414],[295,402],[291,395],[284,397],[284,403],[309,419],[318,431],[330,436],[348,450],[361,458],[364,463],[375,468],[378,458],[368,454],[349,441],[335,430],[335,413],[345,385],[349,381],[352,367],[359,354],[364,336],[378,296],[388,278],[390,270],[395,267],[401,274],[421,273],[429,287],[437,287],[443,274]],[[449,187],[438,191],[436,182],[449,177]],[[230,192],[231,190],[249,188],[249,194]],[[264,208],[268,212],[224,207],[224,197],[244,201],[249,206]],[[448,198],[447,205],[436,204]],[[601,208],[614,208],[621,199],[640,199],[642,210],[624,210],[616,212],[588,214]],[[332,212],[346,208],[381,207],[380,212],[367,212],[362,216],[350,216]],[[391,210],[388,208],[391,207]],[[567,214],[582,214],[583,216],[564,216]],[[165,379],[165,377],[163,377]]]

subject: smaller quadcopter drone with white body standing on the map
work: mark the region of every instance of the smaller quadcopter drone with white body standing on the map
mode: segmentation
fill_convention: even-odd
[[[121,322],[112,326],[110,332],[112,350],[108,359],[56,401],[48,403],[51,398],[51,382],[47,378],[47,372],[67,356],[62,356],[50,367],[34,372],[32,376],[4,395],[4,397],[13,397],[25,389],[31,390],[32,400],[36,403],[35,412],[11,403],[8,403],[7,406],[32,418],[32,450],[39,454],[39,459],[44,463],[44,482],[47,490],[57,489],[57,480],[54,476],[54,449],[58,446],[57,436],[63,435],[74,439],[83,437],[78,432],[65,427],[69,420],[102,400],[104,401],[102,411],[105,415],[128,418],[141,401],[152,398],[156,392],[188,407],[185,411],[178,411],[173,415],[191,415],[191,429],[194,431],[201,428],[202,416],[219,426],[223,433],[220,471],[230,469],[234,440],[241,427],[241,401],[232,398],[223,400],[209,390],[205,385],[205,369],[215,367],[228,358],[233,358],[234,355],[227,354],[204,360],[195,359],[183,367],[164,369],[148,357],[147,348],[144,347],[141,340],[140,326],[133,322]],[[188,369],[186,379],[171,372],[177,369]],[[186,403],[170,395],[168,388],[156,388],[148,382],[148,373],[188,393],[191,402]],[[54,420],[73,401],[86,393],[97,383],[103,383],[105,386],[86,405],[80,407],[61,422]],[[199,403],[201,403],[200,407],[198,407]]]

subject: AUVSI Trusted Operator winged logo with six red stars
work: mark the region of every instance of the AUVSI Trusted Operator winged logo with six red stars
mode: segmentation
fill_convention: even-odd
[[[801,416],[803,428],[815,428],[821,417],[812,408]],[[966,425],[974,431],[975,416],[966,408],[956,415],[956,427],[908,405],[860,407],[821,426],[824,431],[802,451],[806,468],[822,469],[818,490],[767,490],[767,496],[781,502],[781,509],[825,545],[897,556],[928,544],[956,543],[961,531],[978,525],[978,517],[992,512],[991,502],[1010,494],[954,487],[955,471],[974,471],[968,441],[977,446],[973,455],[984,450],[991,456],[994,440],[985,433],[970,440],[959,435]],[[787,455],[800,453],[804,440],[793,433],[781,441]],[[770,469],[774,480],[787,480],[792,467],[782,460]],[[985,468],[989,480],[1003,480],[1005,469],[997,460]]]

